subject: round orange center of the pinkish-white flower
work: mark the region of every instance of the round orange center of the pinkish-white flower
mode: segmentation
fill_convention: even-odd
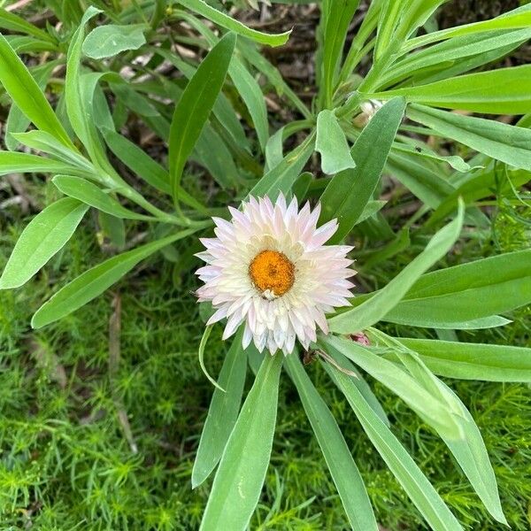
[[[295,266],[285,254],[263,250],[250,263],[249,276],[261,291],[269,289],[275,296],[281,296],[293,286]]]

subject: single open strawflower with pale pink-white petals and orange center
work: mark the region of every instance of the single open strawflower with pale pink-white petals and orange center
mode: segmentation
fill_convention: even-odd
[[[204,281],[199,302],[212,301],[212,325],[227,318],[223,339],[245,323],[243,348],[253,340],[258,350],[289,354],[296,338],[308,349],[316,326],[328,333],[326,312],[350,305],[356,272],[346,245],[323,245],[334,235],[335,219],[317,228],[320,205],[298,211],[296,198],[287,206],[280,195],[250,197],[242,212],[229,207],[230,221],[213,218],[217,238],[202,238],[197,254],[207,266],[196,274]]]

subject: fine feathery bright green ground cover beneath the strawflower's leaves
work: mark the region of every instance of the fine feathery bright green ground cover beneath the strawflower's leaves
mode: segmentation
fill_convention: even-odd
[[[496,238],[472,241],[450,261],[492,254],[496,245],[503,250],[525,245],[525,225],[515,223],[513,211],[497,216]],[[8,213],[9,223],[2,220],[0,266],[23,227],[15,209]],[[2,528],[196,529],[209,485],[192,491],[189,481],[212,386],[196,358],[203,325],[190,294],[196,287],[193,275],[182,275],[158,255],[79,312],[42,330],[29,327],[32,312],[50,296],[50,285],[62,286],[104,259],[92,225],[88,219],[26,288],[0,292]],[[389,259],[366,281],[389,280],[407,260],[407,253]],[[462,338],[524,344],[528,317],[529,311],[521,310],[510,326]],[[206,353],[212,373],[219,371],[226,349],[215,329]],[[326,374],[318,364],[308,370],[350,444],[378,521],[387,529],[425,528]],[[250,382],[249,376],[248,387]],[[499,529],[440,439],[380,384],[372,384],[393,431],[458,518],[470,529]],[[450,384],[485,438],[507,519],[513,529],[528,529],[530,389]],[[251,528],[348,529],[311,427],[285,377],[272,466]]]

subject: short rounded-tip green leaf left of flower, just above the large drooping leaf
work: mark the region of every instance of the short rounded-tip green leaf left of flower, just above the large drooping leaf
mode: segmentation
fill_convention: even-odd
[[[121,219],[151,219],[149,216],[142,216],[127,210],[119,204],[116,199],[109,196],[104,190],[98,188],[96,184],[82,179],[81,177],[73,177],[71,175],[56,175],[52,182],[56,187],[65,194],[65,196],[73,197],[81,203],[88,204]]]

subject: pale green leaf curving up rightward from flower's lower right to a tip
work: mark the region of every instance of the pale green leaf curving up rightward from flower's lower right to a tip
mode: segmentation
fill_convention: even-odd
[[[456,219],[438,231],[426,249],[405,266],[385,288],[377,291],[357,307],[329,319],[330,330],[340,334],[350,334],[383,319],[402,300],[419,276],[451,249],[461,232],[463,218],[464,208],[461,204]]]

